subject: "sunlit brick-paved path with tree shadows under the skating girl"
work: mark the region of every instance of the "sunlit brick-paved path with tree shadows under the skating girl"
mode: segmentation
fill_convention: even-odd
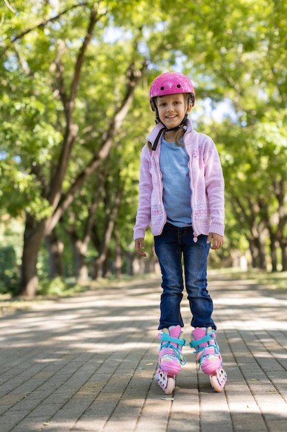
[[[287,292],[210,277],[228,373],[214,393],[189,347],[172,395],[154,380],[159,279],[36,303],[0,320],[1,432],[286,432]],[[186,339],[189,308],[182,303]]]

